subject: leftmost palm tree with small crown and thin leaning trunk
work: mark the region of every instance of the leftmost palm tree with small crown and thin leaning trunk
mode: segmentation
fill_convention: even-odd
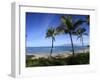
[[[50,58],[52,57],[52,52],[53,52],[53,47],[54,47],[54,41],[55,41],[55,35],[57,34],[56,29],[55,28],[48,28],[47,32],[46,32],[46,38],[51,38],[51,51],[50,51]]]

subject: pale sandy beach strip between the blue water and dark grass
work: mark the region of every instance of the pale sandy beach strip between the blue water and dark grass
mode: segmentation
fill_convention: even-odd
[[[84,49],[84,52],[89,52],[89,49]],[[75,51],[76,54],[78,53],[83,53],[83,50],[78,50],[78,51]],[[68,57],[72,55],[72,52],[70,51],[64,51],[64,52],[61,52],[61,53],[52,53],[52,57],[55,57],[55,58],[65,58],[65,57]],[[49,53],[46,54],[46,53],[41,53],[41,54],[36,54],[36,53],[27,53],[26,54],[26,57],[28,56],[31,56],[31,59],[38,59],[38,58],[48,58],[49,57]]]

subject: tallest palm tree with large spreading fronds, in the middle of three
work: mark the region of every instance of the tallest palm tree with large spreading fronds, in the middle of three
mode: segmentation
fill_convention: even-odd
[[[79,19],[76,22],[73,22],[72,16],[62,16],[61,17],[62,24],[57,28],[57,31],[59,33],[63,34],[69,34],[70,40],[71,40],[71,46],[72,46],[72,54],[74,55],[74,45],[73,45],[73,39],[72,35],[75,32],[75,30],[78,28],[79,25],[83,24],[84,21]]]

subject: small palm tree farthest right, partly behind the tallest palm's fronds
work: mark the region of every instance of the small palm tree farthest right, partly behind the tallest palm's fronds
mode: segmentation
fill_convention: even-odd
[[[80,38],[80,41],[82,42],[82,47],[84,47],[84,42],[83,42],[83,35],[88,35],[86,32],[86,29],[85,28],[79,28],[77,31],[76,31],[76,35],[78,36],[77,39]],[[83,50],[83,53],[85,53],[85,51]]]

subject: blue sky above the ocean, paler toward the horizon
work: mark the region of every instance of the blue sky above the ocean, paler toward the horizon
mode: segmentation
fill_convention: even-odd
[[[70,15],[72,15],[73,21],[76,19],[86,19],[86,15]],[[56,28],[59,26],[61,24],[61,16],[63,14],[26,12],[26,47],[51,46],[51,38],[45,38],[46,31],[49,27]],[[86,28],[86,33],[89,34],[89,25],[84,23],[81,26]],[[89,36],[83,36],[83,38],[84,44],[89,45]],[[81,45],[80,40],[77,40],[77,36],[73,36],[73,42],[75,45]],[[68,34],[55,36],[54,46],[70,44]]]

